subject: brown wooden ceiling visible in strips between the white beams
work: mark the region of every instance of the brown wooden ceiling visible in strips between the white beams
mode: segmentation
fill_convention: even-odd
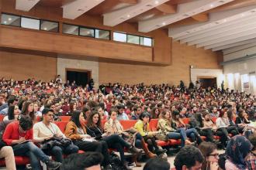
[[[40,0],[37,5],[46,7],[61,8],[62,5],[74,2],[75,0]],[[139,0],[105,0],[99,5],[95,6],[91,10],[85,13],[85,15],[103,15],[108,12],[113,12],[122,8],[126,8],[130,5],[137,4]],[[168,14],[174,14],[176,12],[177,5],[182,3],[193,2],[195,0],[171,0],[165,2],[157,8],[152,8],[147,12],[144,12],[136,17],[127,20],[126,22],[139,22],[147,19],[154,19]],[[202,12],[199,15],[194,15],[182,21],[172,23],[171,25],[164,26],[163,28],[173,28],[177,26],[187,26],[198,22],[206,22],[208,20],[208,14],[210,12],[222,12],[234,8],[241,8],[248,5],[256,5],[256,0],[235,0],[234,2],[221,5],[216,8],[212,8],[209,11]]]

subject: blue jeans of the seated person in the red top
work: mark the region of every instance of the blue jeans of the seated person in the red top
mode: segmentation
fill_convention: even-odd
[[[40,159],[41,162],[49,162],[49,157],[43,153],[43,151],[33,144],[32,141],[28,141],[24,144],[12,146],[14,155],[17,156],[28,156],[30,164],[33,170],[40,170]]]

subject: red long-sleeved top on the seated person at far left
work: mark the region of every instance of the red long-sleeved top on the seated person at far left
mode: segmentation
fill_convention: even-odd
[[[26,140],[33,140],[33,128],[26,131],[26,133],[19,133],[19,121],[13,121],[5,128],[2,140],[5,141],[7,145],[11,145],[12,140],[19,140],[19,138],[24,137]]]

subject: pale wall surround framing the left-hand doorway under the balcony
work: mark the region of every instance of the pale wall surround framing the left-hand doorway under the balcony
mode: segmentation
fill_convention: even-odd
[[[81,56],[68,56],[59,54],[57,57],[57,74],[66,82],[66,68],[92,71],[95,87],[99,87],[99,62]]]

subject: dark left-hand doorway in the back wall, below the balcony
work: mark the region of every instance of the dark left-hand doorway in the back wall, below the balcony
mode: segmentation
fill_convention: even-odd
[[[66,69],[66,80],[69,80],[70,83],[75,81],[78,86],[85,87],[91,76],[92,71],[89,70]]]

